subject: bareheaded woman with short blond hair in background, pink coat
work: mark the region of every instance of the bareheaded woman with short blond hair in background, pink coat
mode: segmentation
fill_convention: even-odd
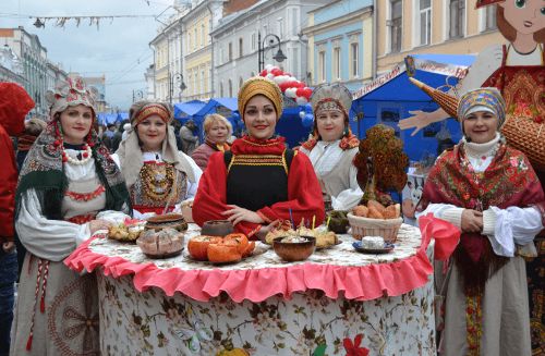
[[[217,113],[207,115],[203,126],[206,140],[191,154],[191,158],[204,171],[211,154],[229,149],[227,140],[231,137],[233,128],[226,118]]]

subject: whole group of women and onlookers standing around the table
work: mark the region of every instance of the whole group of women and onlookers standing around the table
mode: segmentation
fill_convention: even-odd
[[[363,197],[353,165],[360,142],[350,131],[351,95],[340,84],[314,89],[314,126],[298,149],[275,134],[283,97],[266,77],[240,88],[245,134],[231,142],[229,121],[210,114],[202,145],[193,122],[177,135],[165,102],[135,102],[130,121],[100,138],[94,94],[81,78],[59,83],[48,97],[49,121],[25,122],[32,99],[15,84],[0,84],[0,154],[10,162],[1,170],[0,355],[10,349],[10,330],[12,355],[99,353],[95,277],[62,261],[108,228],[102,211],[145,218],[193,200],[197,224],[227,219],[255,240],[282,221],[319,225],[326,210],[350,210]],[[533,238],[544,226],[542,183],[524,154],[506,145],[499,90],[468,90],[458,119],[463,138],[437,159],[420,205],[421,214],[433,212],[462,233],[437,291],[446,297],[441,349],[530,355],[521,256],[535,256]],[[10,136],[20,137],[19,160]],[[73,316],[86,328],[61,332]]]

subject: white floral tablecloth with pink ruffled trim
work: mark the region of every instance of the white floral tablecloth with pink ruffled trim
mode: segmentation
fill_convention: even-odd
[[[195,234],[191,225],[186,238]],[[341,235],[298,263],[261,243],[235,265],[185,250],[150,260],[136,245],[97,237],[65,263],[99,272],[102,354],[436,354],[433,244],[415,228],[403,224],[386,255],[356,253]]]

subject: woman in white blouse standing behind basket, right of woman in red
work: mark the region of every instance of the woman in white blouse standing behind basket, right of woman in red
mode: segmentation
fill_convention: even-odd
[[[350,210],[363,197],[353,164],[360,140],[350,131],[348,115],[352,95],[343,85],[325,84],[314,89],[311,102],[313,137],[300,150],[311,159],[325,200],[330,199],[335,210]]]

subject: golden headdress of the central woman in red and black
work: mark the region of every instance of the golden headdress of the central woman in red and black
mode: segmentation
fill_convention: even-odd
[[[246,108],[250,99],[256,95],[263,95],[275,106],[277,120],[282,115],[282,91],[278,85],[263,76],[254,76],[244,82],[242,87],[239,89],[239,113],[244,119],[244,109]]]

